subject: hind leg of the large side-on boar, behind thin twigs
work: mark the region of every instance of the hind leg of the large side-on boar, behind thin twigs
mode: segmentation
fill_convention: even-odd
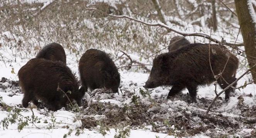
[[[224,79],[223,79],[224,78]],[[222,89],[226,88],[227,86],[229,86],[229,84],[231,84],[232,82],[234,82],[236,80],[235,77],[225,77],[223,76],[223,78],[220,78],[218,80],[218,84],[220,85],[220,87]],[[235,83],[233,86],[236,87],[237,83]],[[230,91],[233,91],[233,88],[229,88],[227,90],[225,90],[225,101],[227,101],[229,99],[229,93]]]

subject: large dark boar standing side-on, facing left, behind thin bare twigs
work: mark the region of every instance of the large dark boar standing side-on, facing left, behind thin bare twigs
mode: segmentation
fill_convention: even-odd
[[[238,59],[224,46],[210,45],[210,60],[214,75],[224,69],[228,54],[231,55],[222,77],[217,80],[222,89],[236,80]],[[213,50],[212,50],[213,49]],[[212,53],[212,51],[214,53]],[[228,54],[227,54],[228,53]],[[163,53],[153,60],[153,67],[144,88],[155,88],[171,85],[168,97],[187,88],[192,101],[196,102],[197,86],[209,85],[215,81],[209,64],[209,44],[193,43],[175,52]],[[234,87],[236,84],[233,85]],[[229,99],[229,92],[225,91],[225,100]]]

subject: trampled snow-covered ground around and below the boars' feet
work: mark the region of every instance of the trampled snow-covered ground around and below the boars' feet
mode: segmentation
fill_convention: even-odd
[[[68,55],[67,63],[73,71],[77,72],[77,63],[74,62],[75,60],[72,60],[72,56],[73,55]],[[136,57],[135,55],[132,56]],[[21,61],[21,59],[16,60]],[[17,72],[19,68],[22,67],[22,65],[24,65],[28,60],[29,59],[23,59],[22,62],[15,64],[12,63],[12,67],[9,67],[8,64],[7,67],[5,67],[5,63],[3,62],[1,62],[0,64],[0,76],[8,79],[2,79],[0,81],[0,96],[2,97],[2,102],[7,104],[7,109],[5,107],[0,108],[0,120],[4,120],[4,118],[6,118],[8,115],[13,116],[16,108],[21,109],[19,114],[20,116],[18,116],[22,118],[22,120],[24,120],[26,116],[29,116],[29,118],[32,117],[32,111],[29,108],[21,107],[21,100],[23,98],[23,94],[20,92],[19,86],[16,82],[18,80]],[[122,61],[117,60],[116,62],[117,64],[120,64],[119,62]],[[11,73],[12,68],[14,69],[15,74]],[[83,123],[81,123],[83,122],[81,120],[89,120],[90,118],[88,117],[93,117],[95,118],[95,120],[104,120],[104,118],[108,118],[107,113],[97,113],[97,111],[96,113],[92,113],[91,110],[94,110],[94,106],[92,106],[93,104],[111,104],[113,106],[124,108],[124,106],[133,105],[132,100],[134,96],[138,96],[141,100],[139,102],[141,102],[142,105],[145,105],[145,108],[147,109],[146,112],[147,114],[149,114],[149,118],[151,118],[152,120],[156,118],[163,118],[163,120],[155,120],[151,121],[151,123],[149,123],[149,121],[145,121],[142,122],[142,125],[128,125],[131,129],[130,138],[137,138],[141,136],[146,136],[149,138],[174,138],[175,136],[181,136],[179,135],[181,134],[181,131],[186,130],[187,128],[185,128],[186,125],[182,127],[178,126],[179,120],[184,121],[184,119],[188,118],[191,118],[191,120],[188,119],[185,122],[190,123],[189,125],[191,125],[191,129],[200,127],[202,129],[199,130],[199,132],[195,133],[195,135],[193,135],[194,138],[204,138],[207,137],[207,135],[212,136],[213,133],[217,133],[219,136],[250,136],[251,131],[256,128],[255,125],[246,125],[241,120],[237,120],[239,116],[247,117],[245,114],[243,114],[243,111],[248,112],[245,111],[246,108],[253,108],[255,110],[254,105],[256,85],[248,85],[246,86],[246,88],[241,89],[241,91],[236,90],[234,96],[232,96],[228,102],[223,101],[224,94],[221,95],[222,99],[216,101],[216,105],[212,110],[224,112],[211,112],[210,116],[216,117],[220,116],[221,114],[221,116],[225,117],[225,119],[227,119],[227,122],[222,122],[222,125],[230,125],[229,129],[233,132],[229,133],[229,129],[226,128],[227,126],[224,127],[220,125],[221,123],[215,124],[214,129],[210,128],[208,125],[214,122],[210,121],[209,123],[206,120],[210,119],[205,120],[203,118],[203,114],[205,113],[207,106],[209,105],[210,101],[215,97],[214,85],[199,88],[197,98],[199,102],[197,104],[187,102],[187,90],[184,90],[183,95],[181,95],[180,97],[166,100],[166,96],[171,87],[157,87],[154,89],[149,89],[148,91],[144,90],[142,86],[146,82],[149,74],[142,72],[143,71],[136,72],[120,70],[121,84],[119,94],[104,93],[102,92],[102,90],[95,90],[91,93],[88,93],[86,94],[86,96],[88,97],[88,95],[90,95],[90,105],[80,107],[80,110],[83,110],[81,113],[70,110],[66,111],[65,109],[58,110],[56,112],[47,111],[46,109],[33,109],[34,115],[39,118],[37,120],[38,122],[29,122],[28,125],[24,126],[22,130],[19,130],[19,121],[14,124],[9,123],[8,129],[3,128],[3,126],[0,127],[0,136],[1,138],[57,138],[63,137],[65,134],[71,132],[70,137],[113,138],[115,135],[117,136],[118,134],[118,131],[115,131],[114,126],[111,126],[112,128],[110,128],[110,130],[105,130],[106,135],[103,136],[102,133],[100,133],[101,126],[99,124],[97,124],[95,127],[81,128],[81,126],[84,125]],[[237,76],[239,76],[239,74]],[[244,85],[245,80],[247,80],[247,78],[243,78],[242,80],[240,80],[237,86]],[[146,95],[141,93],[140,90],[143,90],[144,92],[146,91]],[[217,86],[217,91],[221,91],[219,86]],[[148,93],[150,96],[148,95]],[[242,105],[239,104],[239,99],[237,99],[240,95],[243,96]],[[251,110],[249,112],[251,112]],[[113,114],[115,114],[115,111],[113,111]],[[200,114],[202,116],[200,116]],[[186,115],[187,117],[189,117],[186,118]],[[255,115],[251,115],[250,117],[255,117]],[[127,116],[124,118],[127,118]],[[172,118],[175,118],[175,120],[168,121],[168,123],[166,124],[163,123],[164,121]],[[16,120],[18,120],[18,118],[16,118]],[[131,118],[127,120],[131,120]],[[162,127],[162,129],[158,129],[156,126],[152,125],[152,122],[158,124],[159,128]],[[238,126],[234,126],[234,128],[232,128],[232,125],[234,124]],[[203,130],[202,126],[206,127],[207,130]],[[172,130],[172,133],[170,133],[170,130]],[[77,131],[81,133],[79,136],[75,136],[77,135]]]

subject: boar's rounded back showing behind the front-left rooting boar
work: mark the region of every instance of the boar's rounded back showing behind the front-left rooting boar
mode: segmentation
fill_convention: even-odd
[[[63,47],[58,43],[50,43],[46,45],[36,55],[36,58],[45,58],[52,61],[61,61],[66,64],[66,53]]]

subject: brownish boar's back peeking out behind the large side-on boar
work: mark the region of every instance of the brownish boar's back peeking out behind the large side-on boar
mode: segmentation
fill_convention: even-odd
[[[190,44],[190,42],[188,40],[186,40],[186,38],[184,37],[180,37],[180,36],[175,36],[173,38],[171,38],[168,50],[169,52],[173,52],[177,49],[180,49],[181,47],[184,47],[185,45]]]

